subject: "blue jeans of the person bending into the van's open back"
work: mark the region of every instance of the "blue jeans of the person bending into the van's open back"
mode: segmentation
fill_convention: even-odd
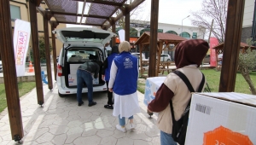
[[[78,87],[77,100],[79,103],[83,102],[82,101],[82,90],[83,90],[84,82],[87,85],[87,89],[88,89],[88,93],[87,93],[88,102],[91,103],[92,102],[92,93],[93,93],[91,73],[78,69],[78,71],[77,71],[77,87]]]

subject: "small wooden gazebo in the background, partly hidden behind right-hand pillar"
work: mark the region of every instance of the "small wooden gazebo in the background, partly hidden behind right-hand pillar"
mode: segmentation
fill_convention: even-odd
[[[256,49],[255,46],[249,46],[248,44],[240,43],[240,52],[244,53],[249,47],[251,49]],[[216,67],[216,70],[218,70],[218,55],[223,54],[223,52],[224,52],[224,43],[218,44],[217,46],[214,46],[212,49],[215,50],[215,58],[216,58],[215,67]]]

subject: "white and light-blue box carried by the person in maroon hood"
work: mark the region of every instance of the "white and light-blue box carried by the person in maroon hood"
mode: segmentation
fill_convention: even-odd
[[[165,79],[166,77],[152,77],[146,79],[144,93],[144,104],[146,106],[154,99],[156,91],[160,88],[161,84],[164,83]]]

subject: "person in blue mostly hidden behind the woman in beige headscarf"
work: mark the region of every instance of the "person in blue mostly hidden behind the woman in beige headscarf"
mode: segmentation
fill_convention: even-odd
[[[110,78],[110,68],[113,61],[113,58],[119,54],[119,48],[117,46],[113,46],[111,54],[106,58],[103,62],[102,68],[102,80],[105,79],[108,88],[108,82]],[[105,108],[113,109],[113,92],[108,91],[108,104],[104,105]]]

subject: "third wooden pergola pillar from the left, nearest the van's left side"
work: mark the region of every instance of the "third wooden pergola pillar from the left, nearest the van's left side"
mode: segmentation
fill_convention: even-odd
[[[49,26],[48,26],[48,20],[49,15],[44,14],[44,49],[45,49],[45,58],[46,58],[46,69],[47,69],[47,78],[48,78],[48,88],[49,90],[53,89],[52,85],[52,75],[51,75],[51,64],[50,64],[50,53],[49,53]]]

